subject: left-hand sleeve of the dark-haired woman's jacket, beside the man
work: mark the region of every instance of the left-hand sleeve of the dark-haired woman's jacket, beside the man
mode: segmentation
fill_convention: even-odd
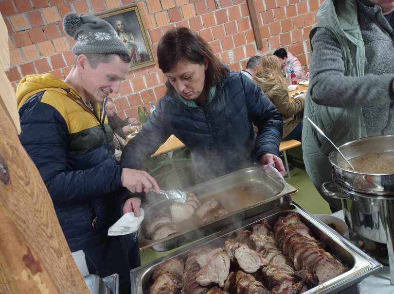
[[[122,167],[140,170],[145,168],[150,156],[171,136],[171,133],[165,130],[164,122],[161,101],[159,101],[156,110],[143,124],[142,130],[123,149],[120,162]]]

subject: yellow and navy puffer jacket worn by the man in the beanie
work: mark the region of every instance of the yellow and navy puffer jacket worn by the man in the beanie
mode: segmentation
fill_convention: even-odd
[[[17,99],[20,142],[48,188],[70,249],[100,244],[109,225],[108,194],[122,186],[102,105],[91,110],[51,74],[24,77]]]

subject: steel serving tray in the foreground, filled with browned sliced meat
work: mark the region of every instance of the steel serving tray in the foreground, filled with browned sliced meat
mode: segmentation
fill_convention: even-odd
[[[186,260],[189,250],[199,245],[212,245],[213,247],[224,245],[224,241],[230,238],[233,232],[239,229],[251,229],[251,227],[262,221],[267,220],[269,224],[273,224],[280,216],[287,215],[289,212],[297,212],[301,215],[302,221],[313,231],[314,235],[327,245],[326,250],[336,256],[346,266],[349,271],[331,280],[322,283],[304,294],[334,294],[346,288],[353,286],[362,279],[372,275],[378,271],[382,265],[369,257],[367,254],[358,249],[350,241],[343,238],[335,230],[331,229],[322,221],[313,217],[312,214],[305,211],[295,202],[283,203],[272,211],[254,216],[252,218],[235,223],[227,229],[223,229],[214,235],[197,241],[194,244],[187,245],[171,255],[162,257],[156,261],[152,261],[146,265],[131,270],[131,293],[132,294],[148,294],[151,277],[154,270],[166,260],[179,257]]]

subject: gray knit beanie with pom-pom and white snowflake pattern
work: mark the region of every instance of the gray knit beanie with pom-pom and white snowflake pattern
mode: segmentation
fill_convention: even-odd
[[[90,14],[78,16],[69,13],[64,16],[64,32],[73,37],[72,52],[79,54],[126,54],[130,52],[119,39],[114,28],[104,19]]]

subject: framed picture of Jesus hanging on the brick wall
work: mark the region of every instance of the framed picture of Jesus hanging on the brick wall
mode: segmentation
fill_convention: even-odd
[[[96,14],[109,22],[130,52],[130,70],[154,65],[152,48],[137,4]]]

